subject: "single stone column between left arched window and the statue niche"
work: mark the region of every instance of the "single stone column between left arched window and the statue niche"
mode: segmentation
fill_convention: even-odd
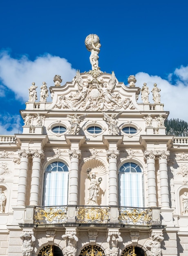
[[[78,204],[78,162],[81,157],[81,150],[69,150],[71,160],[69,204]]]

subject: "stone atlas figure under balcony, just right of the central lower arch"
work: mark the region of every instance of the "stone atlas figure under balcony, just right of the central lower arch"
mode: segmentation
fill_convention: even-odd
[[[108,232],[107,243],[109,256],[117,256],[119,252],[118,242],[122,242],[123,239],[120,236],[120,232]]]

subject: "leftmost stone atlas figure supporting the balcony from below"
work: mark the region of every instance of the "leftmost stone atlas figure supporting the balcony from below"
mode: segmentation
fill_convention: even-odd
[[[31,231],[25,231],[20,235],[20,238],[23,240],[22,244],[22,254],[23,256],[31,256],[33,251],[33,244],[35,242],[34,233]]]

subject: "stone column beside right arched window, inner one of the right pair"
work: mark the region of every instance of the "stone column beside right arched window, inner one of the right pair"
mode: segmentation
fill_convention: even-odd
[[[150,207],[157,207],[155,157],[156,153],[152,150],[144,152],[148,166],[148,204]]]

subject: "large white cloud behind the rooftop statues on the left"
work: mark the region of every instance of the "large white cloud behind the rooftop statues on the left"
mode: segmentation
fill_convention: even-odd
[[[76,70],[65,58],[50,54],[39,56],[34,61],[30,61],[27,56],[15,59],[7,51],[0,53],[0,80],[2,80],[3,85],[15,92],[17,99],[22,98],[23,101],[28,101],[28,89],[32,82],[38,86],[39,96],[43,81],[47,83],[48,87],[54,86],[53,79],[56,74],[63,79],[63,85],[67,81],[72,81],[76,75]]]

